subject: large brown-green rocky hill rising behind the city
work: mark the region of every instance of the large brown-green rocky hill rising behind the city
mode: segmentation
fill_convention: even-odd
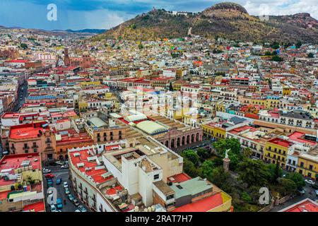
[[[309,13],[291,16],[269,16],[261,20],[250,16],[239,4],[225,2],[206,8],[201,13],[153,10],[128,20],[92,40],[124,38],[129,40],[158,40],[192,35],[225,37],[252,42],[318,42],[318,21]]]

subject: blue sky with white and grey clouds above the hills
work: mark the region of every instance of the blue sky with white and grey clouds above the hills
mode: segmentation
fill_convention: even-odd
[[[318,0],[230,0],[251,15],[310,13],[318,19]],[[169,11],[203,11],[221,0],[0,0],[0,25],[55,29],[112,28],[153,7]],[[57,20],[47,20],[48,4],[57,5]]]

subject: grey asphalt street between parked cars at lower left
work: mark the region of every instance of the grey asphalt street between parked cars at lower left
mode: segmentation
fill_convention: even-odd
[[[69,169],[61,169],[60,166],[49,166],[45,168],[51,169],[51,173],[54,174],[55,176],[53,178],[53,186],[55,189],[57,189],[57,198],[61,198],[63,201],[66,200],[66,205],[64,205],[63,203],[63,209],[61,211],[74,212],[78,208],[71,201],[69,201],[69,198],[67,198],[64,187],[63,187],[63,182],[67,182],[69,184],[69,191],[71,192],[71,194],[78,200],[79,203],[81,203],[81,201],[76,197],[73,190],[70,188],[71,181],[69,180]],[[45,177],[45,174],[44,174],[44,177]],[[62,182],[59,185],[57,185],[58,178],[62,179]],[[50,208],[49,208],[49,205],[47,204],[47,180],[46,179],[44,179],[44,189],[45,189],[45,205],[46,205],[47,211],[49,211]],[[83,203],[81,203],[81,205],[83,205]]]

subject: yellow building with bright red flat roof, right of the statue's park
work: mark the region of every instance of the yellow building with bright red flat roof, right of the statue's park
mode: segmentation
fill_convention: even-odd
[[[269,163],[278,164],[285,168],[287,160],[288,148],[293,143],[285,141],[281,138],[273,138],[266,142],[264,151],[264,160]]]

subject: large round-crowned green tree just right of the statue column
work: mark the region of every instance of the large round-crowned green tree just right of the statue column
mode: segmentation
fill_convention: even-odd
[[[269,172],[261,160],[245,159],[238,166],[239,178],[248,186],[265,186],[268,184]]]

